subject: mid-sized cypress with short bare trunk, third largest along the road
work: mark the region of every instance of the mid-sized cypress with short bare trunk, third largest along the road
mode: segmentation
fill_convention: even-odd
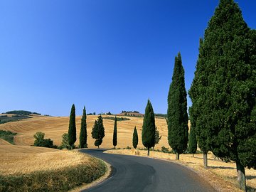
[[[142,125],[142,144],[148,149],[154,146],[156,134],[156,124],[154,119],[154,110],[151,102],[148,100]]]

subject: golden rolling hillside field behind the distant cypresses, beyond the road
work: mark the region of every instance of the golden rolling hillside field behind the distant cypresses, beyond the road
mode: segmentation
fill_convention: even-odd
[[[102,116],[110,117],[110,116]],[[112,116],[114,117],[114,116]],[[132,147],[132,134],[134,127],[137,127],[139,144],[138,148],[144,148],[142,145],[142,117],[128,117],[130,120],[117,122],[117,148],[124,148],[127,146]],[[96,148],[94,145],[95,140],[92,139],[91,132],[92,127],[97,119],[97,116],[87,116],[87,144],[89,148]],[[114,121],[110,119],[103,119],[105,127],[105,137],[100,148],[112,148],[112,137],[114,129]],[[68,132],[69,117],[43,117],[33,116],[31,119],[23,119],[18,122],[9,122],[6,124],[0,124],[0,129],[9,130],[11,132],[18,133],[14,139],[16,145],[33,145],[33,135],[36,132],[44,132],[46,138],[53,140],[54,144],[60,145],[62,141],[62,135]],[[76,117],[76,129],[77,129],[77,142],[75,145],[79,145],[81,117]],[[155,149],[161,149],[161,146],[168,147],[167,140],[167,124],[165,119],[156,118],[156,126],[159,129],[159,134],[162,136],[159,144]]]

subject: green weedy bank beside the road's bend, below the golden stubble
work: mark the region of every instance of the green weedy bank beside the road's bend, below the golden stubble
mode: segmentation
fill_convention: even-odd
[[[95,164],[82,164],[55,171],[37,171],[16,176],[0,175],[0,191],[69,191],[84,183],[91,183],[107,171],[100,159]]]

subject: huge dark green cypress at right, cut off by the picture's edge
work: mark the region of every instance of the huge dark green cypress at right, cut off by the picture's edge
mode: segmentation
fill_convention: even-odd
[[[192,126],[205,134],[215,156],[236,162],[243,191],[245,167],[256,168],[254,33],[238,4],[220,0],[201,41],[190,93]]]

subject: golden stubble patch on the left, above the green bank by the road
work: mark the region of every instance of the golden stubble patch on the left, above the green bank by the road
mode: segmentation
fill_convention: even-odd
[[[16,146],[0,141],[0,174],[30,174],[90,164],[92,158],[77,151],[60,151],[36,146]]]

